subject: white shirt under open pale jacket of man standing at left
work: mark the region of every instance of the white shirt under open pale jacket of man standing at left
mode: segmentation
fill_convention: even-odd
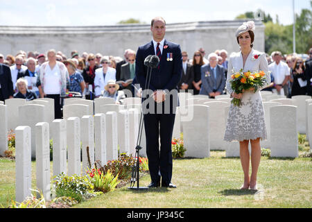
[[[61,92],[61,75],[60,67],[55,65],[53,69],[49,65],[44,70],[44,93],[60,94]]]

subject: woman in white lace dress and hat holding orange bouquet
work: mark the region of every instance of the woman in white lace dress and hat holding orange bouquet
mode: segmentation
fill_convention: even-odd
[[[232,97],[241,99],[241,106],[231,104],[227,117],[225,141],[239,141],[241,165],[244,173],[244,183],[241,189],[257,189],[257,171],[261,159],[260,139],[266,139],[266,123],[260,89],[254,89],[236,94],[229,82],[233,71],[266,71],[267,83],[270,83],[266,54],[252,49],[254,42],[254,22],[245,22],[236,31],[236,38],[241,51],[229,57],[227,71],[227,92]],[[266,87],[264,85],[263,87]],[[252,147],[252,173],[249,176],[250,153],[249,141]]]

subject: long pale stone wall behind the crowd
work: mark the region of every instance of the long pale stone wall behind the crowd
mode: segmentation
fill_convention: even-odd
[[[182,51],[193,57],[203,47],[208,54],[216,49],[228,53],[239,51],[235,31],[244,21],[189,22],[166,25],[166,40],[180,44]],[[255,21],[254,49],[264,51],[264,25]],[[69,56],[73,49],[79,53],[102,53],[121,56],[125,49],[134,49],[152,39],[149,24],[116,26],[0,26],[0,53],[15,55],[17,51],[49,49]]]

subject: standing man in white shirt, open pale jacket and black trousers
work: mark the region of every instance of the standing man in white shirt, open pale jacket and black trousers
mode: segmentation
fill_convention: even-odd
[[[40,67],[37,87],[41,98],[54,99],[55,119],[61,119],[60,96],[64,96],[69,89],[69,74],[64,63],[56,60],[54,49],[48,51],[47,57],[48,61],[44,62]]]

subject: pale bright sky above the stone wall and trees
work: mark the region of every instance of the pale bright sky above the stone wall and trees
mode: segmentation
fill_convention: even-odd
[[[0,25],[101,26],[130,17],[150,23],[162,16],[167,23],[232,20],[258,8],[281,24],[293,23],[293,0],[0,0]],[[295,0],[295,12],[310,8],[310,0]]]

